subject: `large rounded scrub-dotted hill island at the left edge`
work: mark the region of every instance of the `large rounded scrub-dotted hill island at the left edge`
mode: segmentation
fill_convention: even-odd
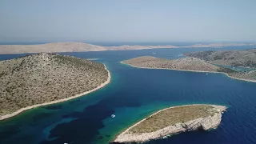
[[[0,61],[0,67],[0,120],[77,98],[110,82],[102,63],[60,54],[31,54]]]

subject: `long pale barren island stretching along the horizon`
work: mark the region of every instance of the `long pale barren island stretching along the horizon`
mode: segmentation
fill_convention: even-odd
[[[57,52],[82,52],[82,51],[103,51],[103,50],[144,50],[159,48],[194,48],[194,47],[215,47],[224,46],[254,46],[256,43],[210,43],[195,44],[191,46],[96,46],[82,42],[53,42],[37,45],[0,45],[0,54],[24,54],[24,53],[57,53]]]

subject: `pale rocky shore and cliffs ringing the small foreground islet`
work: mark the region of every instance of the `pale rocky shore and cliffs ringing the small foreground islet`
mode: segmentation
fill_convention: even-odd
[[[195,118],[193,120],[190,120],[188,122],[178,122],[171,126],[166,126],[163,129],[156,130],[154,132],[150,133],[133,133],[131,130],[141,124],[142,122],[145,122],[147,118],[142,119],[142,121],[134,124],[133,126],[130,126],[128,129],[123,131],[121,134],[118,134],[113,142],[118,143],[126,143],[126,142],[147,142],[153,139],[158,138],[167,138],[168,136],[172,134],[178,134],[186,131],[192,131],[192,130],[210,130],[215,129],[218,127],[222,120],[222,114],[224,111],[226,111],[226,106],[216,106],[216,105],[185,105],[185,106],[212,106],[213,110],[216,110],[214,114],[204,118]],[[178,108],[182,106],[173,106],[170,108],[166,108],[163,110],[159,110],[158,112],[150,115],[148,118],[154,117],[154,115],[161,113],[164,110],[170,110],[174,108]],[[154,125],[152,123],[152,125]]]

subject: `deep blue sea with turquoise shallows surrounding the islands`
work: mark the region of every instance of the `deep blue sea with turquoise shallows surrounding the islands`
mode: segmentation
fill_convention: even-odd
[[[225,74],[147,70],[120,61],[143,55],[180,58],[198,50],[242,50],[254,46],[62,53],[99,58],[112,79],[101,90],[68,102],[38,107],[0,122],[0,144],[107,144],[134,122],[169,106],[209,103],[228,106],[216,130],[193,131],[150,144],[256,143],[256,83]],[[153,52],[155,54],[153,54]],[[0,55],[1,60],[24,54]],[[110,118],[115,114],[115,118]]]

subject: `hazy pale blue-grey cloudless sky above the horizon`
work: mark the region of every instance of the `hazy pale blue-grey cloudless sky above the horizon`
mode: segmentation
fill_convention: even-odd
[[[0,0],[0,42],[256,42],[255,0]]]

